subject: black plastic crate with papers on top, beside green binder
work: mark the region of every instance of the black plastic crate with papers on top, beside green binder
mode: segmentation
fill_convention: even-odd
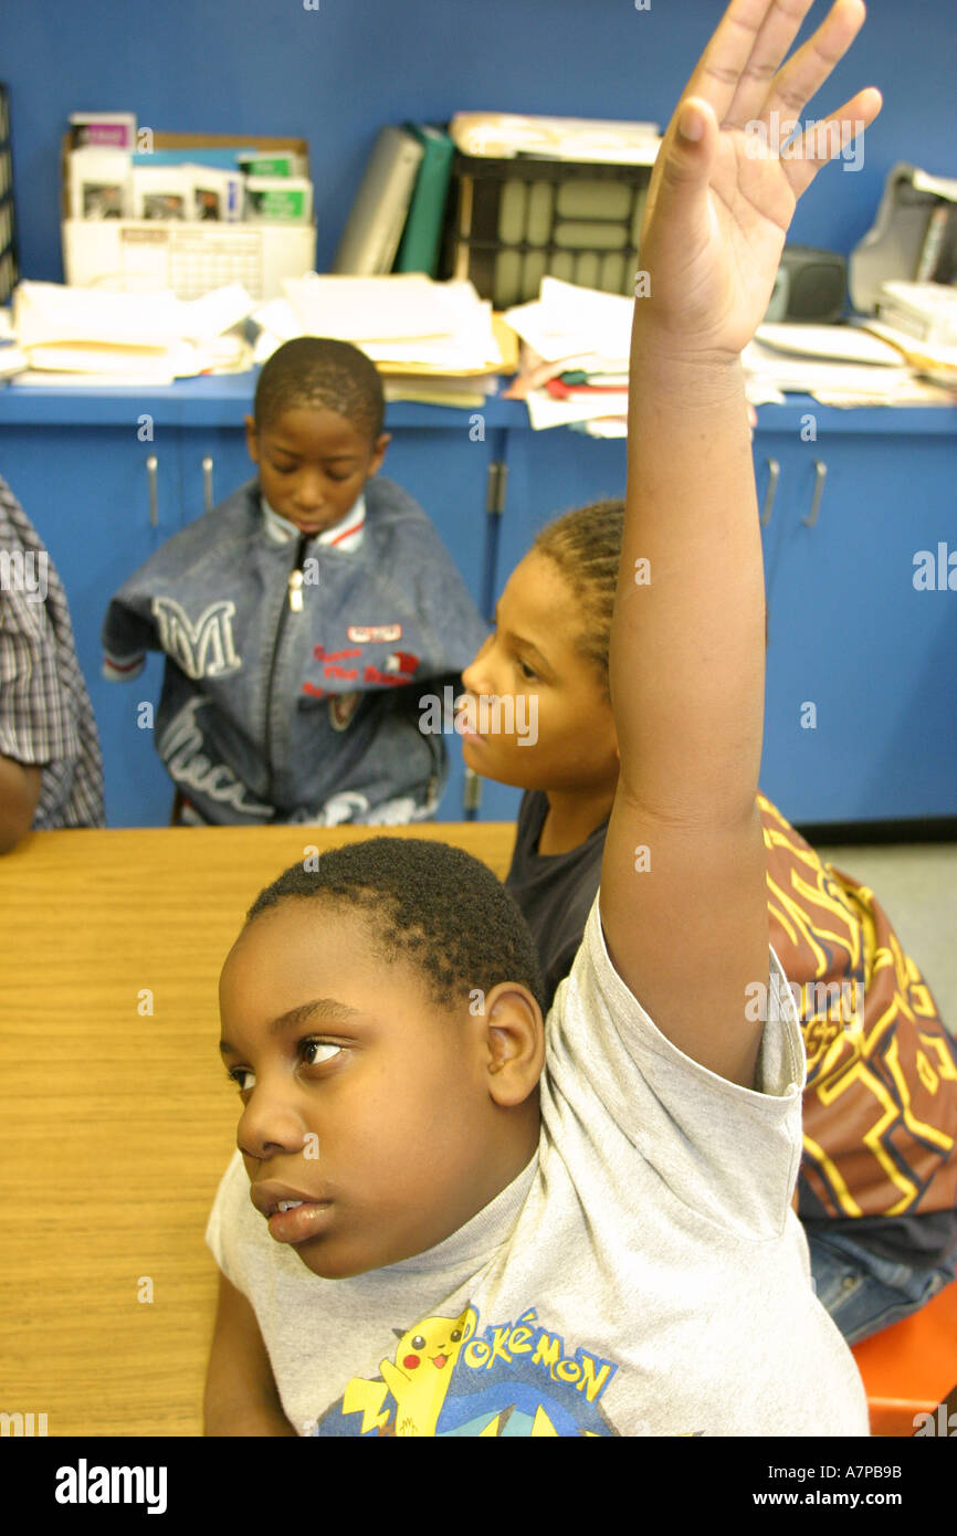
[[[538,298],[542,276],[634,293],[651,166],[455,155],[444,278],[470,278],[493,309]]]

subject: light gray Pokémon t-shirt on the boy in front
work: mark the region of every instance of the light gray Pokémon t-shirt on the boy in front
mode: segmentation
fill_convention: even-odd
[[[452,1236],[321,1279],[269,1236],[233,1157],[206,1240],[257,1313],[292,1425],[866,1435],[790,1204],[803,1075],[793,1005],[765,1025],[756,1089],[684,1055],[614,971],[596,899],[548,1014],[538,1154]]]

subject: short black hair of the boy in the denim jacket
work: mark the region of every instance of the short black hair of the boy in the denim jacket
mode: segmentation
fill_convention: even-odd
[[[278,347],[257,382],[253,418],[264,432],[286,410],[323,406],[346,416],[375,444],[386,421],[382,381],[372,358],[349,341],[296,336]]]

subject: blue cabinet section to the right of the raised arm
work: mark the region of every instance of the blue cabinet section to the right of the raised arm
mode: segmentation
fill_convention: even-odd
[[[957,438],[843,415],[816,441],[756,436],[780,465],[762,788],[793,822],[954,816],[957,594],[914,581],[920,551],[957,548]]]

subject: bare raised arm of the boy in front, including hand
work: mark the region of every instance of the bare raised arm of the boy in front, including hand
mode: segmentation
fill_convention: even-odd
[[[768,977],[754,800],[765,599],[740,352],[797,198],[842,132],[849,143],[880,111],[880,94],[862,91],[828,118],[830,146],[819,124],[800,154],[779,154],[776,123],[799,118],[865,18],[862,0],[837,0],[780,68],[811,5],[731,0],[654,164],[611,628],[621,777],[602,862],[608,952],[662,1034],[748,1087],[763,1026],[747,989]]]

